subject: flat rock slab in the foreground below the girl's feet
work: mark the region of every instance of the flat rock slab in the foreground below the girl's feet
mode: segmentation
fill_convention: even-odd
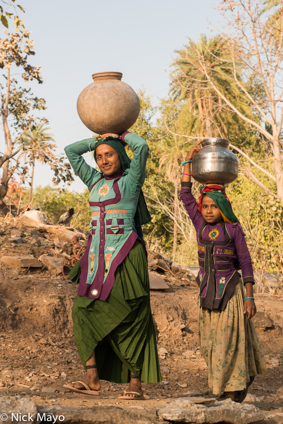
[[[231,399],[212,405],[194,404],[187,399],[178,399],[156,409],[158,418],[174,423],[194,424],[249,424],[264,418],[262,412],[253,405],[242,405]]]

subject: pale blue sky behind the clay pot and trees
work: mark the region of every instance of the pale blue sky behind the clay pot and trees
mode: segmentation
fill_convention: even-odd
[[[143,86],[156,104],[168,92],[174,51],[186,43],[186,37],[196,40],[200,33],[212,34],[208,20],[215,24],[220,19],[212,7],[217,0],[19,3],[26,8],[23,20],[35,40],[31,62],[41,65],[44,81],[32,83],[32,89],[46,100],[44,116],[59,152],[71,142],[92,136],[76,111],[77,97],[92,82],[92,73],[123,72],[123,81],[135,90]],[[52,177],[47,166],[36,165],[35,185],[51,183]],[[84,188],[78,178],[71,184],[73,190]]]

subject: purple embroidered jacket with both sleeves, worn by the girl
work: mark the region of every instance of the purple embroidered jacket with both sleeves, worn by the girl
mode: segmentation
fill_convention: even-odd
[[[197,231],[200,306],[223,311],[240,278],[235,268],[236,259],[241,265],[244,284],[254,283],[243,228],[239,222],[206,222],[189,187],[181,188],[180,199]]]

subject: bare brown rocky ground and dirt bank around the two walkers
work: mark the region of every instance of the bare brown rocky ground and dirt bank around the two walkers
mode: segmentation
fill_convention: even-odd
[[[79,380],[84,374],[72,335],[71,307],[77,286],[60,271],[64,256],[72,260],[74,244],[51,239],[42,231],[41,238],[37,235],[38,246],[31,228],[15,228],[4,221],[0,231],[0,396],[27,396],[39,406],[111,405],[140,414],[191,392],[213,397],[198,347],[198,289],[169,273],[163,275],[169,288],[150,292],[162,383],[143,384],[146,400],[142,401],[119,400],[118,393],[127,386],[106,381],[98,397],[67,392],[65,381]],[[21,233],[16,235],[22,239],[20,244],[9,240],[15,231]],[[53,260],[52,266],[48,262],[44,268],[15,267],[11,261],[2,261],[7,256],[40,259],[42,255],[61,262],[55,266]],[[193,276],[189,279],[194,281]],[[255,379],[247,401],[265,411],[265,422],[283,423],[283,296],[257,294],[255,301],[254,323],[268,375]]]

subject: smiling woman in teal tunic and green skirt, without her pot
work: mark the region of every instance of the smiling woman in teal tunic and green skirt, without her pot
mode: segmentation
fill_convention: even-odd
[[[132,162],[123,143],[134,150]],[[71,270],[79,282],[73,332],[86,376],[67,389],[99,394],[99,379],[129,383],[120,399],[143,399],[141,381],[161,381],[150,310],[141,225],[150,220],[141,187],[148,145],[129,132],[105,134],[65,148],[90,195],[90,234],[85,254]],[[100,172],[83,153],[94,151]]]

